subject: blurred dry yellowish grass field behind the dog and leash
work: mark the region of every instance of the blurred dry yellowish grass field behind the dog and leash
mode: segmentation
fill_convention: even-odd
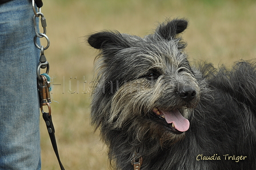
[[[100,30],[143,37],[166,18],[187,18],[183,34],[191,62],[231,65],[256,56],[256,2],[222,0],[43,1],[53,78],[51,104],[59,155],[66,169],[110,169],[106,148],[90,126],[90,82],[97,54],[85,35]],[[57,85],[59,84],[59,85]],[[59,169],[41,121],[42,169]]]

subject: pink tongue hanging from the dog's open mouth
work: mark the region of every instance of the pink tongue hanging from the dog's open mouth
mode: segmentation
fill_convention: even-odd
[[[185,132],[189,129],[189,120],[184,118],[181,113],[175,109],[170,112],[161,111],[162,114],[165,116],[165,120],[167,123],[173,123],[175,129],[180,132]]]

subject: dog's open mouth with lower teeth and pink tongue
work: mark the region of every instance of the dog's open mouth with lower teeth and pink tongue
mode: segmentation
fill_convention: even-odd
[[[171,111],[163,111],[158,108],[153,108],[153,112],[159,119],[165,120],[170,126],[171,131],[181,134],[189,129],[189,120],[184,118],[178,109]]]

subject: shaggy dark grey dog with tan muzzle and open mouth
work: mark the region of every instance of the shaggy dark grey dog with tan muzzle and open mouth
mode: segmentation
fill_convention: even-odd
[[[186,27],[89,37],[100,50],[91,122],[115,169],[256,169],[256,63],[190,66]]]

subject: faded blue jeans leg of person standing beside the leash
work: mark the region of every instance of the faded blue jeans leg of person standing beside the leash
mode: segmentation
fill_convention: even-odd
[[[0,5],[0,169],[41,169],[33,15],[29,0]]]

